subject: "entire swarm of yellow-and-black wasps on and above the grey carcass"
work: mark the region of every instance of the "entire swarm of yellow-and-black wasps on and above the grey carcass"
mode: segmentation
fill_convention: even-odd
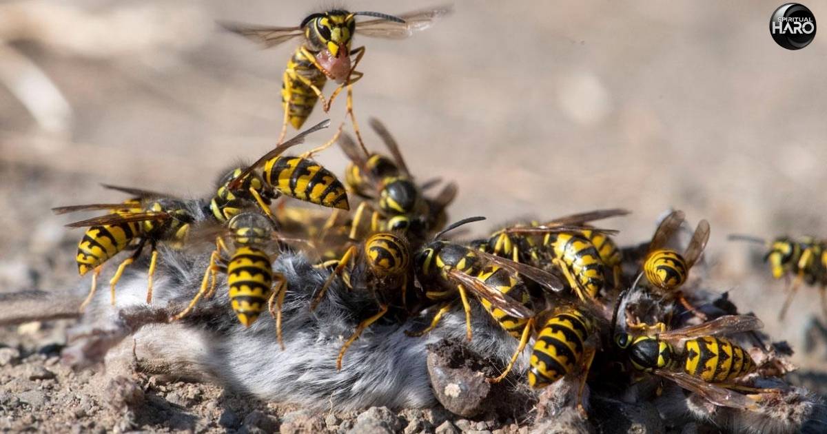
[[[332,10],[314,13],[296,27],[225,24],[267,46],[304,38],[284,72],[284,125],[279,144],[255,163],[222,174],[214,193],[206,198],[176,198],[104,185],[128,197],[122,203],[54,208],[59,214],[108,210],[103,216],[67,225],[86,228],[76,261],[79,274],[92,273],[93,277],[81,308],[93,298],[103,266],[122,252],[131,251],[109,281],[112,304],[117,300],[118,280],[146,247],[150,250],[146,303],[152,303],[152,279],[163,252],[186,250],[199,240],[214,241],[198,292],[170,321],[184,320],[198,309],[200,300],[213,297],[219,289],[218,274],[226,274],[229,308],[241,326],[250,327],[266,308],[275,319],[274,332],[284,349],[281,308],[291,289],[284,276],[274,271],[273,262],[280,252],[294,250],[328,273],[308,309],[326,303],[327,289],[334,283],[375,301],[366,308],[370,314],[361,318],[343,343],[337,369],[342,369],[347,348],[380,320],[399,322],[410,339],[417,339],[461,306],[466,338],[474,339],[471,316],[475,310],[480,312],[475,306],[479,304],[481,312],[517,342],[508,364],[500,375],[489,379],[491,383],[505,379],[533,342],[526,375],[535,389],[571,375],[580,381],[584,396],[592,365],[619,362],[625,372],[635,373],[630,379],[653,374],[719,406],[747,409],[757,405],[761,393],[767,393],[748,384],[758,366],[748,350],[727,335],[755,331],[761,322],[741,315],[710,318],[702,307],[692,304],[684,290],[709,240],[708,222],[698,224],[681,252],[668,246],[685,216],[680,211],[670,213],[637,259],[625,257],[615,244],[612,236],[617,231],[591,226],[628,214],[624,209],[520,222],[497,228],[483,239],[453,241],[448,238],[452,231],[485,219],[469,217],[447,224],[447,207],[456,198],[457,186],[447,183],[437,193],[428,193],[442,180],[418,182],[397,141],[376,119],[370,119],[370,126],[389,152],[368,150],[352,111],[352,84],[362,77],[356,65],[365,48],[351,49],[352,37],[360,33],[409,36],[449,11],[438,7],[397,17]],[[360,16],[373,19],[356,22]],[[351,55],[355,56],[352,61]],[[325,99],[321,89],[327,79],[340,85]],[[340,126],[318,148],[286,155],[330,122],[320,122],[283,141],[287,125],[302,126],[319,99],[327,111],[343,88],[347,88],[347,116],[356,139]],[[344,182],[312,158],[334,143],[350,160]],[[351,201],[358,202],[352,213]],[[816,250],[816,244],[782,246],[780,242],[772,245],[774,250],[768,255],[774,272],[796,270],[808,282],[824,281],[827,255],[820,244]],[[624,270],[629,263],[635,267],[633,273]],[[632,294],[641,293],[655,301],[655,309],[636,305]],[[700,322],[689,325],[687,318]],[[427,326],[409,326],[409,320]]]

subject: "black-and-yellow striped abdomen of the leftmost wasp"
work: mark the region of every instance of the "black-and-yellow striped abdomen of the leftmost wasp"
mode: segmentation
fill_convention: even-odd
[[[78,243],[78,255],[75,256],[78,272],[80,275],[88,273],[126,249],[138,236],[141,236],[141,224],[137,222],[89,227]]]

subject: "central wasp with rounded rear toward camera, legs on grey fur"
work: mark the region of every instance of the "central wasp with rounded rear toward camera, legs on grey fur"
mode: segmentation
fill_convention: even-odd
[[[336,369],[342,370],[345,352],[361,332],[388,312],[391,303],[399,300],[406,306],[408,286],[412,282],[411,250],[408,240],[399,232],[375,232],[358,245],[351,245],[341,259],[329,260],[320,267],[334,266],[322,288],[313,297],[310,309],[314,310],[327,293],[333,279],[352,291],[369,292],[379,306],[379,312],[363,320],[356,331],[345,341],[336,360]]]

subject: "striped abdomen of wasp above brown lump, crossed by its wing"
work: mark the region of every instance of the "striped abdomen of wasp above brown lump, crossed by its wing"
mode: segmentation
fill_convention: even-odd
[[[482,280],[490,288],[496,288],[500,293],[504,293],[509,296],[509,298],[519,301],[519,303],[522,303],[526,308],[533,309],[531,294],[528,293],[528,288],[526,288],[522,279],[520,279],[517,274],[510,272],[508,269],[504,269],[500,265],[486,265],[480,270],[480,274],[477,274],[476,278]],[[525,325],[528,323],[528,318],[512,317],[500,308],[493,307],[491,303],[483,297],[480,297],[480,303],[482,303],[482,307],[491,314],[491,317],[494,317],[494,320],[500,324],[505,331],[509,332],[509,335],[517,339],[520,338]]]

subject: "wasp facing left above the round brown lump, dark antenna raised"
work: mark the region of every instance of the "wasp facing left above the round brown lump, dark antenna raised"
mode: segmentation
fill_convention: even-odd
[[[561,291],[564,284],[557,276],[542,269],[440,239],[447,231],[483,219],[484,217],[471,217],[450,225],[414,256],[415,269],[419,282],[425,288],[425,297],[439,307],[428,327],[407,333],[409,336],[422,336],[437,327],[442,315],[453,308],[458,294],[466,313],[466,337],[471,341],[471,305],[467,292],[474,294],[494,321],[511,336],[519,339],[519,346],[504,372],[500,377],[490,380],[498,382],[514,366],[533,330],[535,312],[524,279],[552,292]]]

